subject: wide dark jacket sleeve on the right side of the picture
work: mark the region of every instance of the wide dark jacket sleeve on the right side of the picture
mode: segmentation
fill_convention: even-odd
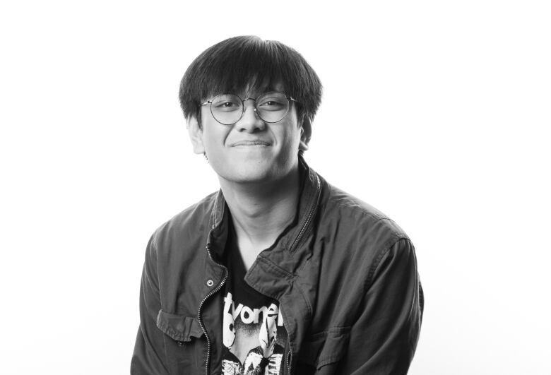
[[[409,239],[381,251],[350,330],[348,374],[407,374],[419,338],[423,294]]]

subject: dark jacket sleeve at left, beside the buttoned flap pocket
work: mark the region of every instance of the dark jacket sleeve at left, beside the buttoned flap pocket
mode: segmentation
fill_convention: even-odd
[[[161,304],[154,236],[155,234],[148,243],[141,277],[140,327],[130,364],[132,375],[168,374],[164,333],[157,328],[156,323]]]

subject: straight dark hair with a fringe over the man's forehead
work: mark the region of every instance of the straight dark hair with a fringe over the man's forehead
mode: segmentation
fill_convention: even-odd
[[[283,83],[285,93],[297,100],[300,121],[312,121],[321,102],[321,81],[295,49],[276,40],[253,35],[231,37],[206,49],[191,63],[180,83],[184,117],[201,121],[199,105],[208,97],[242,93]]]

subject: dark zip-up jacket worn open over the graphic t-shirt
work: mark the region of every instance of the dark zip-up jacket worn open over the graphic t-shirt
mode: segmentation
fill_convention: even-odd
[[[295,222],[245,280],[278,299],[285,374],[405,374],[422,319],[413,244],[395,222],[328,184],[301,159]],[[151,237],[131,374],[220,374],[227,237],[211,194]]]

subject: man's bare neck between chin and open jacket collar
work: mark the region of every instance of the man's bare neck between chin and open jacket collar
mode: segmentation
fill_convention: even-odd
[[[295,218],[300,194],[298,165],[278,181],[240,184],[220,178],[220,186],[248,269]]]

